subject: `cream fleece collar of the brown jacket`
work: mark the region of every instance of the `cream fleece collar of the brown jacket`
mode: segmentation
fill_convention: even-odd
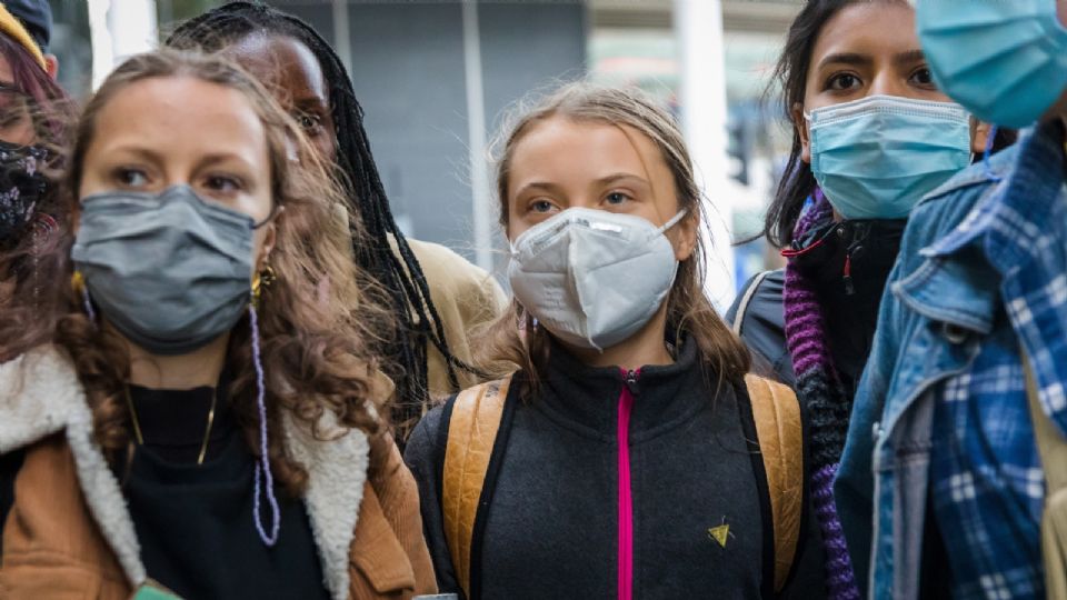
[[[346,599],[349,550],[367,481],[370,443],[362,431],[343,432],[329,420],[320,421],[317,437],[288,412],[283,428],[287,449],[308,471],[303,501],[327,587],[335,599]],[[331,428],[341,436],[329,436]],[[137,588],[147,573],[133,520],[92,429],[81,382],[60,350],[44,347],[0,364],[0,453],[64,433],[89,512]]]

